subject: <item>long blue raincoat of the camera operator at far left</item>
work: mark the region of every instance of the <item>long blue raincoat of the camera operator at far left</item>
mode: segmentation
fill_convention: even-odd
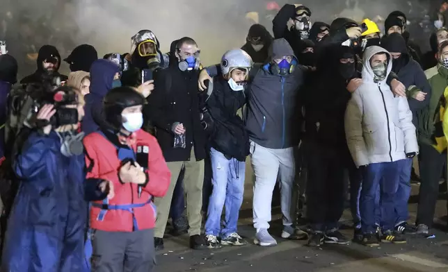
[[[13,161],[20,185],[1,271],[83,271],[88,212],[84,156],[67,158],[60,148],[56,132],[32,132]]]

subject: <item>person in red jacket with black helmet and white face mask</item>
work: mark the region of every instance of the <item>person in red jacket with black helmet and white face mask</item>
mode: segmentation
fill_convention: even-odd
[[[170,171],[157,140],[141,130],[145,99],[131,87],[104,97],[102,127],[84,138],[88,177],[113,183],[113,198],[91,203],[93,271],[152,271],[152,198],[164,196]]]

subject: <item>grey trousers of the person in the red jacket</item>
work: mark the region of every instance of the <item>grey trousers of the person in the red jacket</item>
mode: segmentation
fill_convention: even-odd
[[[151,272],[156,264],[154,230],[92,235],[92,272]]]

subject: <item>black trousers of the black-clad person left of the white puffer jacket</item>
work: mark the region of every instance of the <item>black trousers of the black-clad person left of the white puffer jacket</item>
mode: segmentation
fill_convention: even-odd
[[[314,142],[307,144],[307,219],[314,231],[332,230],[344,212],[342,152]]]

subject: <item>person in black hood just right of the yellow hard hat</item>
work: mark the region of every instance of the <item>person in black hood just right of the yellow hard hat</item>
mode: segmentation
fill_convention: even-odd
[[[410,56],[412,56],[415,61],[420,63],[422,51],[417,44],[409,40],[409,33],[406,31],[406,22],[406,16],[403,12],[391,12],[384,22],[385,35],[390,35],[390,33],[399,33],[402,35],[406,41],[406,46],[408,47]]]

